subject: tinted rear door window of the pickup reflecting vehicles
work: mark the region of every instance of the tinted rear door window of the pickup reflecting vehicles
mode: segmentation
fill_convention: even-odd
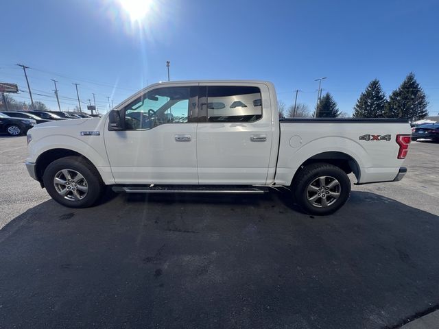
[[[262,117],[261,90],[257,87],[208,86],[203,105],[208,122],[253,122]]]

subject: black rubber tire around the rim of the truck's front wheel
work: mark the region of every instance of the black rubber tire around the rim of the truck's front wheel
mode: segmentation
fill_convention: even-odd
[[[62,169],[73,169],[84,176],[88,186],[87,195],[84,199],[71,201],[64,199],[64,197],[56,191],[54,177],[56,173]],[[93,172],[93,169],[78,157],[61,158],[51,162],[44,172],[43,182],[47,193],[49,193],[52,199],[69,208],[86,208],[93,206],[102,195],[103,184],[99,178],[99,174]]]

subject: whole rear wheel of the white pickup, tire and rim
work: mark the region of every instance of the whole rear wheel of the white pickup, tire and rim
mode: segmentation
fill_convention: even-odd
[[[324,184],[319,184],[322,177]],[[309,164],[297,173],[292,191],[295,201],[305,212],[311,215],[330,215],[348,201],[351,195],[351,180],[342,169],[333,164]],[[316,199],[313,199],[314,197]]]

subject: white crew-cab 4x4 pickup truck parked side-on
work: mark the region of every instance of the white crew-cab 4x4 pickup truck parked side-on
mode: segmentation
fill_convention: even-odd
[[[29,174],[64,206],[126,193],[264,193],[285,187],[327,215],[357,184],[401,180],[410,125],[400,119],[279,119],[270,82],[148,86],[100,119],[27,133]]]

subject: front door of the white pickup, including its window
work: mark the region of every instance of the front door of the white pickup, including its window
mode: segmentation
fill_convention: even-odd
[[[117,184],[198,184],[198,87],[160,87],[121,109],[122,131],[105,131]]]

